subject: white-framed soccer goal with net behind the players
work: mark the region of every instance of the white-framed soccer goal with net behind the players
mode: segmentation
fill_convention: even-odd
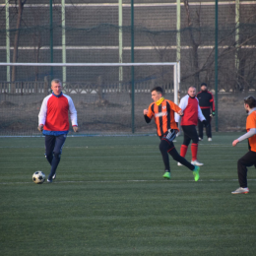
[[[0,136],[39,136],[36,130],[42,99],[51,94],[50,81],[63,81],[63,93],[71,96],[78,111],[80,135],[156,133],[143,109],[152,102],[151,89],[160,86],[165,97],[177,102],[179,63],[0,63],[17,66],[27,74],[53,69],[40,82],[0,82]],[[76,82],[77,81],[77,82]],[[72,127],[70,127],[70,133]]]

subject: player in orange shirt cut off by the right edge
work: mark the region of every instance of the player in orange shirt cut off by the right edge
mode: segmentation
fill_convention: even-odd
[[[232,194],[247,194],[247,167],[254,165],[256,167],[256,98],[248,96],[244,98],[244,108],[248,113],[246,119],[246,131],[244,135],[232,142],[235,147],[237,143],[248,139],[249,152],[237,161],[237,173],[240,187],[231,192]]]

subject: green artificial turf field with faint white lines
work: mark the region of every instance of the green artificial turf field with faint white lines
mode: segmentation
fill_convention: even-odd
[[[171,159],[171,180],[161,177],[155,136],[68,137],[56,180],[41,185],[32,173],[49,173],[44,139],[0,138],[0,254],[256,255],[256,169],[249,194],[230,193],[240,135],[200,143],[198,182]]]

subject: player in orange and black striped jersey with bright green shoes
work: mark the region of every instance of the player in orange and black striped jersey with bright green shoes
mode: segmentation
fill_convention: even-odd
[[[183,112],[178,105],[162,96],[162,89],[156,87],[151,91],[153,103],[149,109],[144,109],[144,117],[147,123],[150,123],[154,117],[157,125],[157,133],[160,137],[160,154],[164,163],[164,178],[170,179],[170,167],[168,154],[173,160],[181,162],[183,165],[193,171],[195,181],[199,179],[199,166],[195,166],[180,157],[174,147],[173,140],[178,132],[177,124],[174,120],[174,112],[182,115]]]

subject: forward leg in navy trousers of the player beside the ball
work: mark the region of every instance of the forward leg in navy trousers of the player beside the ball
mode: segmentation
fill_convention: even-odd
[[[53,150],[53,160],[51,162],[51,170],[50,170],[50,174],[48,176],[48,180],[49,182],[52,181],[52,177],[55,175],[56,173],[56,169],[58,167],[58,164],[60,162],[60,156],[62,153],[62,147],[66,141],[67,135],[66,134],[62,134],[59,136],[56,136],[56,142],[55,142],[55,147]]]

